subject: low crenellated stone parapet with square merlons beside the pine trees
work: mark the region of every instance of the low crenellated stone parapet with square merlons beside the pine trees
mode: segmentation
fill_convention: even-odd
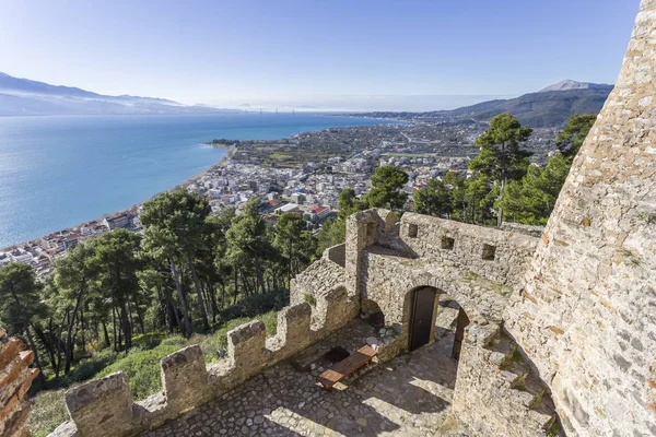
[[[358,302],[338,287],[278,314],[276,335],[267,338],[259,320],[227,333],[227,358],[211,366],[200,346],[185,347],[161,361],[163,390],[133,402],[121,371],[66,392],[71,423],[55,436],[128,436],[154,428],[243,383],[265,368],[303,351],[358,315]],[[74,426],[72,426],[74,424]]]

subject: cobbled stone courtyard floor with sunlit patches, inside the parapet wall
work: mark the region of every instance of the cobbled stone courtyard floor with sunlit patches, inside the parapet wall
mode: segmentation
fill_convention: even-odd
[[[438,433],[457,363],[453,334],[388,363],[374,364],[327,392],[317,376],[335,345],[353,352],[376,331],[358,320],[223,397],[144,434],[169,436],[461,436]],[[340,344],[340,339],[349,339]]]

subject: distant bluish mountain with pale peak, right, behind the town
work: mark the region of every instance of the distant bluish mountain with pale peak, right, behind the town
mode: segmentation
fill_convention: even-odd
[[[551,128],[561,127],[574,114],[600,111],[612,88],[612,85],[563,81],[538,93],[511,99],[482,102],[453,110],[371,113],[366,116],[426,121],[487,121],[499,114],[511,113],[525,126]]]

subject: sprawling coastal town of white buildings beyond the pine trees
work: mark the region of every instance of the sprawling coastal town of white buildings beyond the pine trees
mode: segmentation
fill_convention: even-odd
[[[176,187],[204,196],[214,213],[226,208],[237,212],[253,198],[261,200],[260,212],[274,225],[278,216],[293,212],[307,228],[318,232],[337,215],[339,193],[352,188],[358,196],[372,185],[378,165],[394,165],[409,175],[403,191],[412,199],[415,189],[447,172],[467,174],[469,160],[479,149],[473,144],[488,123],[460,122],[388,123],[330,128],[303,132],[283,140],[213,140],[227,147],[223,161]],[[553,149],[557,129],[535,129],[527,142],[534,165],[541,166]],[[51,233],[28,243],[0,249],[0,267],[28,263],[39,276],[52,270],[54,260],[87,238],[114,228],[141,233],[141,205]]]

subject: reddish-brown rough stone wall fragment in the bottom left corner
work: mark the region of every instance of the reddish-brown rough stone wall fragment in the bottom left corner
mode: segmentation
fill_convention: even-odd
[[[30,435],[27,390],[38,375],[38,369],[30,368],[33,359],[34,353],[22,341],[7,336],[0,328],[0,436]]]

